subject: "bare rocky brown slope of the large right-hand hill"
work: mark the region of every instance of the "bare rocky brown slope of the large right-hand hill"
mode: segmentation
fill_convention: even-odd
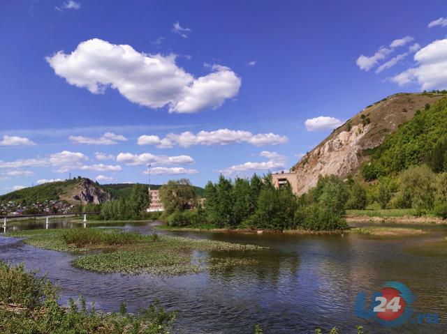
[[[358,171],[386,137],[413,119],[418,110],[436,104],[444,96],[444,92],[398,93],[365,107],[291,167],[295,192],[307,192],[316,185],[319,175],[344,177]]]

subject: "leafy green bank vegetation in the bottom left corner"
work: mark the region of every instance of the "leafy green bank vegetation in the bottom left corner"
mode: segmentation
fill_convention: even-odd
[[[165,312],[154,303],[136,314],[87,310],[84,298],[57,303],[58,289],[47,278],[27,272],[24,266],[0,261],[0,333],[3,334],[168,334],[175,312]],[[78,306],[79,305],[79,306]]]

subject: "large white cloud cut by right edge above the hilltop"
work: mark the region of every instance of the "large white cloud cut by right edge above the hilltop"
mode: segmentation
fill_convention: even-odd
[[[421,89],[447,89],[447,39],[435,40],[414,55],[415,68],[391,77],[390,80],[403,86],[418,82]]]

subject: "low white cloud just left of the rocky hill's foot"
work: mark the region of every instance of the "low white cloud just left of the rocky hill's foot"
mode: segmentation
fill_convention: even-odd
[[[263,162],[245,162],[241,165],[233,165],[226,169],[221,169],[224,175],[238,175],[247,174],[253,172],[276,172],[286,167],[287,158],[284,155],[280,155],[277,152],[262,151],[260,153],[262,157],[268,158],[268,161]]]

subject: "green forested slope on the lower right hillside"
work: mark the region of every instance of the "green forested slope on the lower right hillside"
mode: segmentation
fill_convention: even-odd
[[[424,163],[433,172],[447,171],[447,98],[425,105],[369,153],[370,162],[361,168],[365,181]]]

